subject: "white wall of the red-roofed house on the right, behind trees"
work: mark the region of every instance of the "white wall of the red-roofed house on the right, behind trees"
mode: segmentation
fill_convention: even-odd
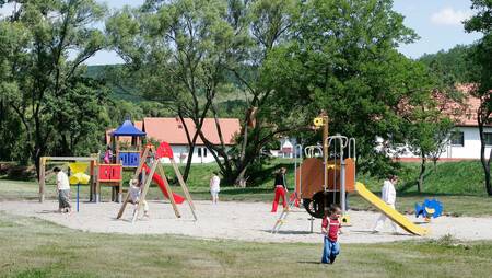
[[[480,135],[478,127],[456,127],[455,131],[464,132],[465,144],[453,146],[448,142],[445,151],[441,154],[441,159],[480,159]],[[484,128],[484,132],[492,132],[492,128]],[[382,151],[382,140],[376,147],[377,151]],[[485,158],[489,158],[491,147],[485,147]],[[389,157],[398,158],[418,158],[415,154],[409,151],[409,148],[402,146],[393,150],[386,150]]]

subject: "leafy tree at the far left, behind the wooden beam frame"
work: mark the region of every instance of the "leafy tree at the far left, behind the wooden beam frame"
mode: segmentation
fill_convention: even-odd
[[[86,106],[79,102],[67,107],[66,97],[99,94],[95,83],[81,77],[83,62],[105,46],[102,32],[94,27],[105,9],[93,0],[12,2],[19,3],[16,10],[0,22],[0,44],[7,45],[0,57],[0,86],[22,123],[24,143],[38,170],[39,158],[51,147],[65,144],[62,152],[73,152],[68,141],[75,134],[63,132],[68,130],[63,121],[77,114],[73,109]],[[97,114],[98,107],[92,108]]]

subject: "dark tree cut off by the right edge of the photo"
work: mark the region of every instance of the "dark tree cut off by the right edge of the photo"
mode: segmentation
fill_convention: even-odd
[[[492,2],[472,0],[471,3],[471,9],[477,10],[477,14],[465,22],[465,30],[467,32],[483,33],[483,37],[477,43],[473,51],[470,54],[471,60],[476,65],[471,71],[473,72],[473,81],[477,84],[471,93],[480,99],[480,107],[477,112],[481,142],[480,161],[485,176],[487,193],[489,196],[492,196],[490,174],[492,150],[489,153],[489,158],[487,158],[484,137],[484,126],[492,123]]]

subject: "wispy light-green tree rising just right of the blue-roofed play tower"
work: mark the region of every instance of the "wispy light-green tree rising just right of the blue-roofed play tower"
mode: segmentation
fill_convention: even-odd
[[[141,81],[139,89],[168,104],[181,119],[189,144],[185,179],[204,118],[215,111],[224,69],[234,62],[233,51],[242,43],[242,33],[234,33],[226,19],[225,1],[147,1],[141,9],[118,12],[106,24],[128,72]],[[185,118],[192,119],[195,132]],[[219,160],[216,152],[211,154]],[[226,153],[220,155],[229,160]],[[230,173],[230,165],[220,165],[222,172]]]

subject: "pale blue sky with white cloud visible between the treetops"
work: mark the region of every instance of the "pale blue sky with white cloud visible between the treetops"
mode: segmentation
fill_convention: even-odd
[[[124,5],[138,7],[144,0],[97,0],[110,9]],[[423,54],[447,50],[456,45],[467,45],[481,37],[479,33],[468,34],[462,21],[470,18],[470,0],[394,0],[394,10],[405,16],[405,25],[415,31],[420,39],[399,47],[399,51],[410,58]],[[0,10],[3,13],[8,8]],[[114,51],[99,51],[90,58],[87,65],[120,63],[122,60]]]

